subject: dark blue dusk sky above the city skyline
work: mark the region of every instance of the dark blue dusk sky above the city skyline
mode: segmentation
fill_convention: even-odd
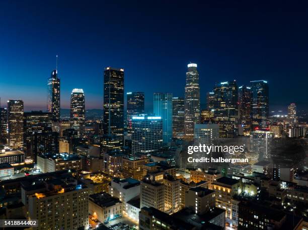
[[[270,4],[268,2],[271,2]],[[61,78],[61,107],[83,88],[102,107],[103,68],[125,69],[125,92],[184,95],[198,64],[201,101],[215,82],[265,79],[271,110],[308,108],[306,1],[0,1],[0,96],[46,108],[46,81]]]

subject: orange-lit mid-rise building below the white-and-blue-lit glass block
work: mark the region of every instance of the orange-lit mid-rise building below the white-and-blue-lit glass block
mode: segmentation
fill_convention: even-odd
[[[142,180],[145,176],[143,173],[143,165],[149,163],[149,157],[124,157],[123,158],[123,176],[125,178],[133,178]]]

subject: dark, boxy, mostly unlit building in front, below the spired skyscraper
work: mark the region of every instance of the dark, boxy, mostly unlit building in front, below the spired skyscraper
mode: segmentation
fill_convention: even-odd
[[[59,134],[57,132],[34,133],[31,137],[32,159],[43,153],[59,153]]]

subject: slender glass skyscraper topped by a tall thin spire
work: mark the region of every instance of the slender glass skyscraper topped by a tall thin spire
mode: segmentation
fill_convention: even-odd
[[[52,113],[52,120],[60,120],[60,78],[58,71],[55,69],[51,72],[51,76],[47,81],[48,99],[47,110]]]

